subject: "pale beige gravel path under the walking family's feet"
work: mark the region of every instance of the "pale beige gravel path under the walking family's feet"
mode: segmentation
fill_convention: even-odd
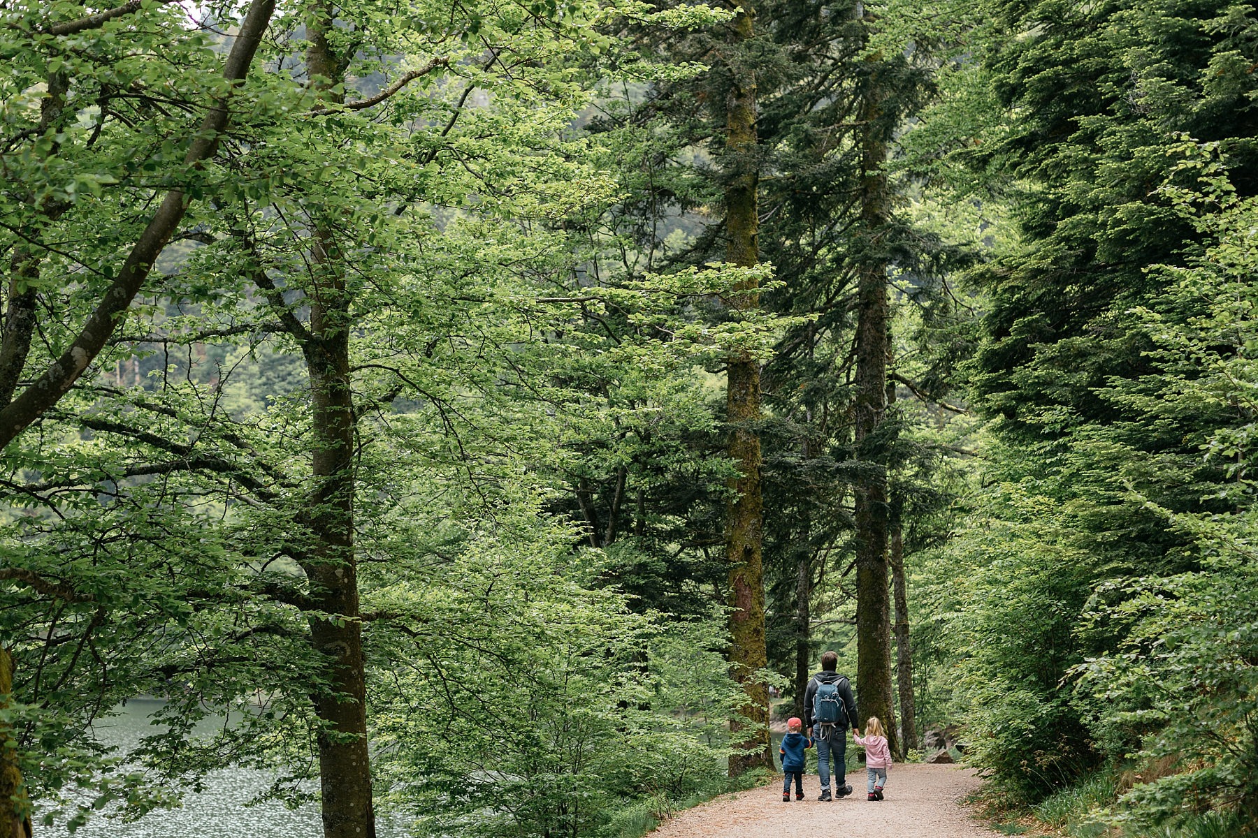
[[[886,800],[866,799],[864,770],[848,775],[855,794],[821,803],[816,775],[804,775],[803,800],[782,803],[777,780],[687,809],[650,838],[989,838],[996,835],[970,818],[961,798],[979,786],[955,765],[894,765]],[[791,789],[794,798],[794,789]],[[819,822],[818,818],[824,817]],[[824,829],[819,829],[824,824]]]

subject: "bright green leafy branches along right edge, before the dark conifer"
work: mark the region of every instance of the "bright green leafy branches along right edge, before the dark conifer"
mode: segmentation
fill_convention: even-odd
[[[1150,356],[1167,372],[1149,386],[1118,384],[1157,415],[1193,406],[1214,420],[1200,437],[1208,461],[1227,477],[1211,495],[1230,511],[1175,513],[1150,508],[1166,525],[1199,545],[1201,563],[1190,572],[1116,579],[1097,588],[1087,631],[1122,627],[1113,653],[1078,667],[1081,688],[1098,707],[1098,730],[1117,746],[1138,743],[1137,764],[1170,761],[1169,775],[1135,785],[1123,795],[1118,820],[1147,828],[1213,808],[1248,817],[1258,812],[1254,765],[1255,602],[1252,555],[1252,392],[1255,382],[1254,305],[1248,276],[1255,202],[1239,197],[1214,156],[1216,146],[1186,143],[1184,168],[1200,178],[1196,190],[1172,193],[1206,236],[1183,268],[1157,266],[1171,283],[1169,304],[1138,314],[1155,347]],[[1135,392],[1132,392],[1135,391]]]

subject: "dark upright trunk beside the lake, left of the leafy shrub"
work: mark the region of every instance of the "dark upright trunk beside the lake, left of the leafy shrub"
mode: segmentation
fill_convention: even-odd
[[[316,8],[307,23],[307,70],[326,102],[338,103],[346,63],[326,33],[332,11]],[[316,536],[302,562],[320,612],[309,618],[314,648],[328,656],[328,687],[314,695],[320,790],[325,838],[375,838],[371,763],[367,750],[366,675],[359,621],[357,562],[353,550],[355,422],[350,374],[350,303],[342,255],[323,219],[314,219],[309,295],[309,339],[304,342],[311,383],[313,432],[311,506],[306,523]]]

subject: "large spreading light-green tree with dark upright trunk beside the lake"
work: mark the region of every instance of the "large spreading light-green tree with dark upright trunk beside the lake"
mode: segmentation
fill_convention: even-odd
[[[452,19],[438,4],[414,6],[403,28],[385,11],[370,3],[314,5],[303,18],[277,18],[283,25],[273,28],[265,59],[286,72],[259,82],[249,118],[233,123],[214,165],[192,170],[206,201],[166,251],[161,281],[118,319],[97,362],[45,411],[40,432],[5,450],[4,634],[19,641],[18,666],[5,670],[16,676],[18,746],[3,756],[26,769],[25,779],[5,773],[23,829],[31,789],[53,808],[67,803],[74,819],[111,803],[138,815],[230,760],[281,769],[265,795],[291,802],[307,799],[303,781],[317,779],[325,834],[372,834],[374,670],[365,632],[376,655],[431,643],[421,628],[428,612],[410,593],[421,593],[425,579],[435,585],[420,568],[453,550],[391,516],[414,491],[399,462],[465,475],[459,480],[484,516],[478,526],[501,526],[507,506],[536,516],[535,495],[546,489],[521,474],[562,462],[565,427],[604,421],[586,393],[555,383],[574,358],[594,367],[581,352],[605,354],[609,371],[657,371],[701,363],[732,344],[762,351],[757,324],[746,340],[738,328],[713,333],[671,319],[676,300],[726,293],[755,271],[586,289],[572,281],[570,235],[543,232],[555,220],[596,216],[615,193],[590,165],[589,143],[566,134],[590,97],[567,57],[605,46],[593,26],[619,10],[487,4]],[[704,15],[678,20],[701,25]],[[198,41],[206,62],[209,44]],[[489,89],[492,99],[482,93]],[[166,104],[152,108],[165,116]],[[148,171],[135,143],[167,160],[153,126],[128,111],[102,106],[101,114],[84,143],[113,143],[120,172]],[[137,204],[153,195],[142,177],[133,187],[138,197],[128,200]],[[64,258],[49,254],[54,264]],[[569,293],[556,297],[556,283]],[[74,284],[43,285],[35,299],[74,312],[84,294]],[[574,307],[616,308],[639,334],[595,352],[574,325]],[[112,367],[140,362],[147,379]],[[240,389],[250,377],[273,382],[269,398]],[[410,415],[426,422],[424,431],[392,436],[390,426],[409,425]],[[447,491],[458,482],[445,474],[425,485],[443,481]],[[486,485],[497,481],[521,487]],[[564,530],[562,521],[554,526]],[[477,545],[464,550],[468,562],[488,549],[457,529],[452,538]],[[399,533],[423,547],[404,547]],[[540,525],[522,538],[542,533]],[[501,538],[508,535],[521,531]],[[556,548],[550,534],[542,544]],[[364,564],[365,552],[375,564]],[[542,575],[564,564],[555,554],[545,559]],[[121,568],[125,587],[116,580]],[[476,577],[488,579],[487,590],[493,573]],[[644,641],[632,637],[645,636],[645,623],[613,618],[621,602],[587,597],[577,580],[589,579],[570,573],[570,584],[556,583],[555,607],[619,627],[625,655],[637,655]],[[538,653],[557,645],[536,638]],[[77,651],[54,652],[63,648]],[[654,678],[668,660],[633,671]],[[442,666],[416,671],[444,677]],[[722,680],[711,687],[704,712],[723,720]],[[160,726],[128,754],[98,753],[86,727],[136,694],[166,699]],[[399,700],[406,706],[405,695]],[[194,734],[208,714],[233,710],[239,725],[209,739]],[[659,721],[652,712],[639,726],[618,719],[605,727],[640,730]],[[677,744],[689,746],[693,734],[678,731]],[[718,737],[708,764],[720,746]],[[658,766],[644,760],[635,770]],[[639,776],[626,775],[620,794],[638,794]],[[92,794],[91,805],[58,797],[75,786]],[[557,793],[531,794],[550,805]],[[566,805],[560,800],[540,823],[555,823]]]

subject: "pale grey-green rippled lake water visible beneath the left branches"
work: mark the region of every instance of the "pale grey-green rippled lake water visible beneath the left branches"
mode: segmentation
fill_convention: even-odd
[[[159,701],[133,699],[118,716],[106,719],[97,735],[109,745],[127,745],[151,734],[148,715]],[[179,809],[160,809],[136,823],[93,818],[73,833],[74,838],[318,838],[323,834],[318,807],[292,810],[281,803],[245,807],[274,775],[244,768],[224,768],[205,778],[205,792],[187,794]],[[69,838],[64,825],[35,827],[39,838]],[[381,824],[381,835],[389,830]]]

